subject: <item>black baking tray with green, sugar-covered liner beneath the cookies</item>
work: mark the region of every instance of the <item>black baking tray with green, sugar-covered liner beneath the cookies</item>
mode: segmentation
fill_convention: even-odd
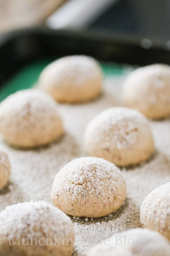
[[[16,90],[31,87],[36,83],[42,68],[63,55],[91,55],[101,62],[105,74],[111,72],[111,78],[108,76],[105,81],[105,92],[98,99],[80,105],[59,104],[66,131],[59,141],[37,150],[14,149],[1,141],[0,150],[7,152],[12,166],[10,181],[1,191],[1,210],[7,205],[23,201],[51,202],[50,191],[55,174],[70,160],[85,155],[82,139],[86,125],[103,109],[119,106],[120,86],[126,75],[122,73],[122,66],[132,69],[133,66],[126,63],[170,64],[170,53],[163,44],[159,48],[152,44],[150,49],[144,49],[141,40],[128,40],[93,31],[80,33],[44,28],[18,31],[1,38],[2,98]],[[128,196],[122,207],[103,218],[71,217],[76,234],[74,256],[84,256],[92,245],[115,232],[140,227],[139,209],[142,200],[152,189],[169,181],[170,148],[167,134],[170,120],[150,121],[150,125],[155,139],[155,152],[146,162],[122,169],[128,188]]]

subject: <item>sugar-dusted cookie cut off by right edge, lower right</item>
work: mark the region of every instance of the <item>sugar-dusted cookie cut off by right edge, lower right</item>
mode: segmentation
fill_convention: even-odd
[[[141,205],[141,224],[170,241],[170,182],[154,189]]]

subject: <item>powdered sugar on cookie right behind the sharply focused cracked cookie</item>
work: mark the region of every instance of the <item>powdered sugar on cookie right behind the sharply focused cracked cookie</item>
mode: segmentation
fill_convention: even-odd
[[[148,131],[148,121],[138,111],[123,107],[109,108],[89,123],[85,141],[92,139],[93,144],[99,143],[103,149],[114,147],[120,150],[130,148],[139,133],[147,134]],[[103,134],[104,138],[101,137]]]

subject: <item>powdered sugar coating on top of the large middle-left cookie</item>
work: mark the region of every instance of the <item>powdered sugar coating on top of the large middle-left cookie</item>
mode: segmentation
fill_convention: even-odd
[[[14,117],[17,117],[17,120],[13,120],[13,125],[15,121],[18,130],[22,133],[28,127],[28,119],[29,126],[33,126],[42,119],[44,122],[50,122],[53,116],[58,116],[56,102],[47,94],[33,89],[18,91],[1,102],[0,118],[8,116],[11,112]],[[44,112],[48,115],[44,115]],[[6,120],[8,125],[12,125],[11,121]]]

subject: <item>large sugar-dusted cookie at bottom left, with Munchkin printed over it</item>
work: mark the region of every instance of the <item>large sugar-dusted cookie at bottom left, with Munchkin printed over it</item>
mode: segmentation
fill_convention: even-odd
[[[70,256],[74,228],[70,218],[44,202],[11,205],[0,213],[1,256]]]

